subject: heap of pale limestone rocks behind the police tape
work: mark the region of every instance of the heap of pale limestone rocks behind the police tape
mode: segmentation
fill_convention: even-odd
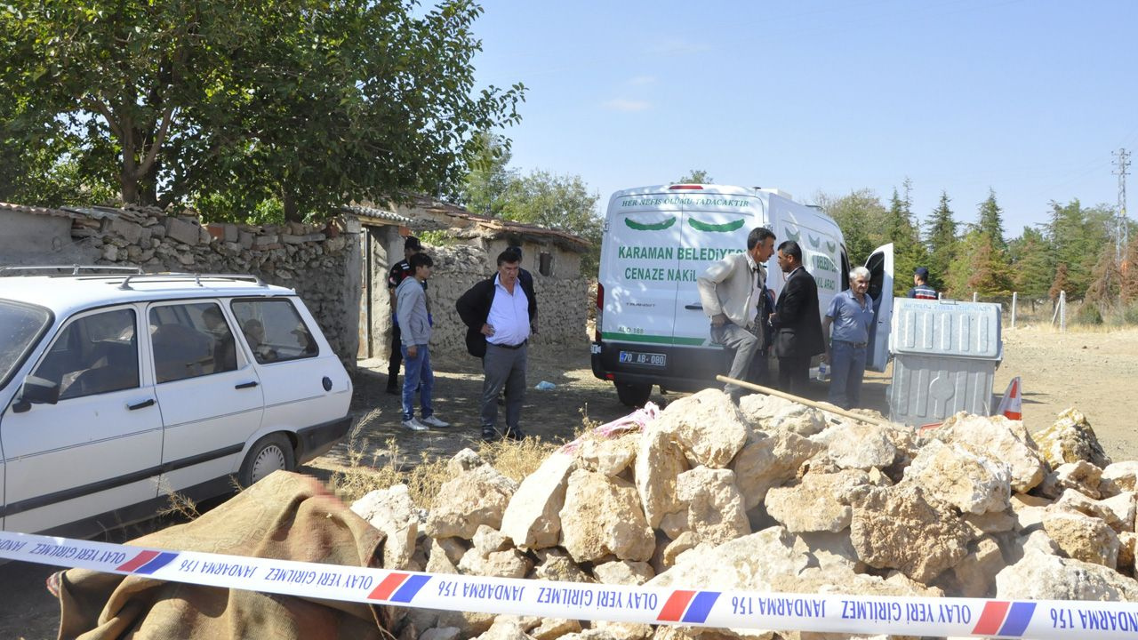
[[[1069,410],[1031,435],[959,413],[914,432],[709,389],[643,432],[584,438],[520,484],[464,450],[435,507],[406,487],[353,509],[385,566],[715,590],[1138,599],[1138,462],[1112,463]],[[842,634],[588,623],[403,609],[405,640]]]

